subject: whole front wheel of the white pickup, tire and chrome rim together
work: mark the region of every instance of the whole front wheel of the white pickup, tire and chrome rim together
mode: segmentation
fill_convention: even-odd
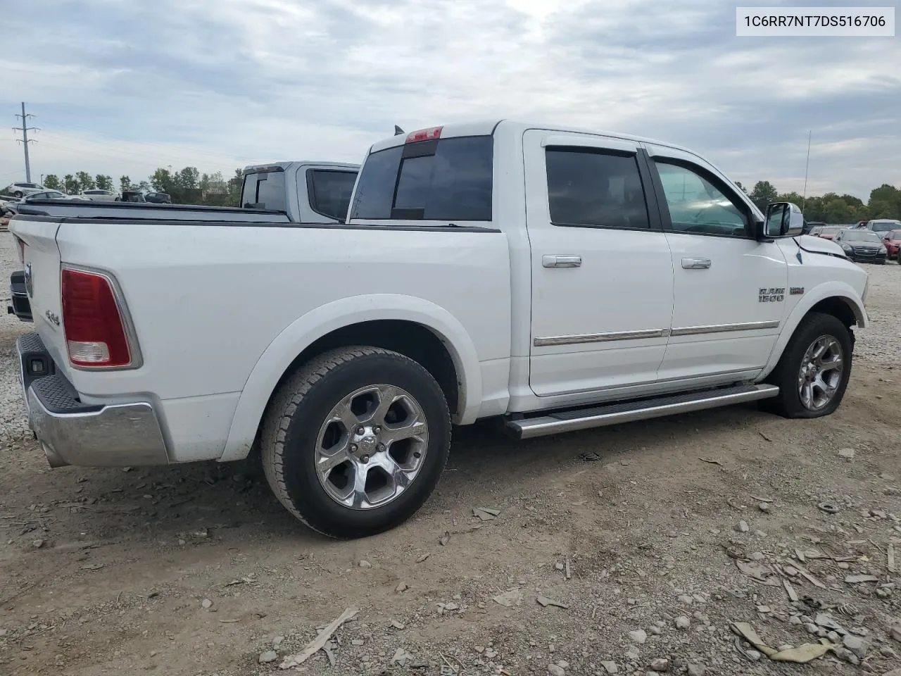
[[[833,315],[806,315],[767,381],[778,397],[764,407],[789,418],[828,416],[842,403],[851,377],[851,330]]]

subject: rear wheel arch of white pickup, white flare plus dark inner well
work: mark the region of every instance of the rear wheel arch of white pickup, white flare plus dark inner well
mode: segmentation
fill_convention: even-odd
[[[247,456],[269,400],[298,365],[332,348],[353,345],[394,350],[421,363],[449,397],[455,423],[472,422],[478,415],[478,353],[453,315],[418,297],[342,298],[296,319],[260,355],[241,390],[220,461]]]

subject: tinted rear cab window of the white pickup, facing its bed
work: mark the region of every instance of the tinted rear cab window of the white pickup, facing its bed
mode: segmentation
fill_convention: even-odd
[[[429,138],[371,152],[350,218],[368,221],[491,221],[494,138]]]

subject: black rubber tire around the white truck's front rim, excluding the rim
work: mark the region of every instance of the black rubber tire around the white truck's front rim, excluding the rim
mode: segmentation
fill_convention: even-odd
[[[821,337],[831,336],[842,347],[841,379],[832,399],[823,407],[811,410],[801,401],[798,393],[798,376],[807,349]],[[851,377],[853,340],[851,330],[833,315],[812,312],[801,320],[794,335],[782,352],[776,368],[767,378],[771,385],[779,388],[778,397],[764,399],[761,404],[766,410],[787,418],[816,418],[829,416],[842,403],[848,380]]]

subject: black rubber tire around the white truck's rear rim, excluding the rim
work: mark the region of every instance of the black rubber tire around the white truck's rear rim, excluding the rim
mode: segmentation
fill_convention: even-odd
[[[323,488],[315,470],[318,435],[344,397],[376,384],[401,388],[414,398],[428,425],[428,441],[418,473],[396,498],[358,509],[340,504]],[[417,362],[380,348],[341,348],[305,363],[278,389],[260,442],[269,486],[291,514],[330,537],[366,537],[403,523],[432,495],[450,452],[451,414],[441,387]]]

